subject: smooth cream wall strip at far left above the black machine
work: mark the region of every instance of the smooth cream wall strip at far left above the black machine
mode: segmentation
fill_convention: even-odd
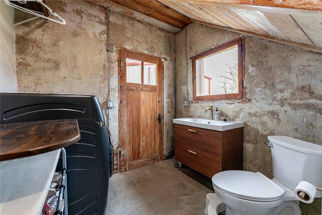
[[[0,1],[0,92],[17,92],[14,9]]]

